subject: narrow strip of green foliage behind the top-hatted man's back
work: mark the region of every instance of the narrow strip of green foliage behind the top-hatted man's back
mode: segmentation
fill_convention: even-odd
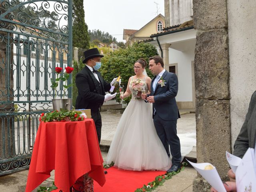
[[[79,64],[76,61],[73,62],[73,68],[74,68],[74,70],[72,72],[72,85],[73,85],[72,102],[73,102],[73,106],[76,106],[76,98],[78,96],[78,90],[76,87],[76,74],[78,74],[78,72],[80,72],[84,68],[84,65],[85,64],[83,64],[82,59],[80,59]]]

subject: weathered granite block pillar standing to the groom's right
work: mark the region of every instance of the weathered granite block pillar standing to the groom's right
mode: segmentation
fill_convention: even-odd
[[[196,29],[196,151],[197,162],[216,166],[222,180],[231,150],[228,22],[226,0],[193,0]],[[208,191],[198,174],[193,191]]]

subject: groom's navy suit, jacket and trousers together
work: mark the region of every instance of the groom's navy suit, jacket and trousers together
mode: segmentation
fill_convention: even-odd
[[[162,141],[167,154],[172,154],[172,164],[180,165],[180,139],[177,136],[177,119],[180,118],[178,106],[175,97],[178,93],[178,78],[176,74],[165,71],[159,80],[164,80],[165,86],[156,83],[155,90],[153,83],[156,76],[151,82],[150,96],[154,96],[153,119],[156,132]],[[159,81],[158,80],[158,81]]]

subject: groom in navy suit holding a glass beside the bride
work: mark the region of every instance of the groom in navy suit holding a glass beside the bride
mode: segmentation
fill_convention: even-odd
[[[155,76],[151,82],[150,94],[142,94],[142,98],[153,103],[156,132],[169,157],[171,151],[172,166],[167,172],[178,171],[181,161],[180,139],[176,129],[177,119],[180,118],[175,100],[178,93],[178,78],[176,74],[164,69],[164,61],[160,56],[149,58],[149,69]]]

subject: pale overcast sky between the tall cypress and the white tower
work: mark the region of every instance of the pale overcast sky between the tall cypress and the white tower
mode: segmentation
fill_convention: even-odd
[[[108,32],[124,41],[124,29],[139,30],[158,14],[164,15],[164,0],[84,0],[85,22],[89,30]]]

